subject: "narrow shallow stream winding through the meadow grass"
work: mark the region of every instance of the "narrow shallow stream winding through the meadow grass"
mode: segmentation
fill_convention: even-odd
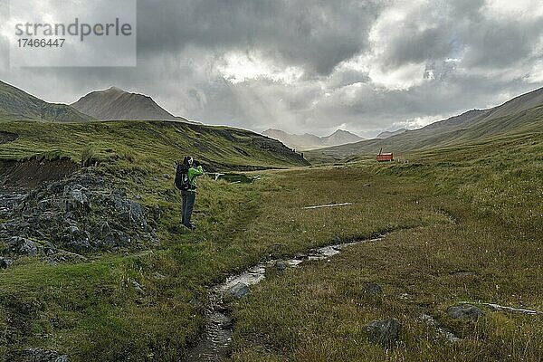
[[[276,263],[284,262],[292,267],[305,261],[328,261],[331,256],[342,249],[359,243],[377,242],[382,238],[360,240],[352,243],[338,243],[325,246],[310,252],[298,254],[289,260],[270,260],[258,263],[240,274],[229,277],[224,283],[214,286],[208,294],[209,306],[205,311],[207,320],[205,333],[189,351],[187,361],[221,361],[230,355],[230,343],[233,335],[233,319],[224,303],[224,297],[247,291],[247,287],[257,284],[264,279],[266,268],[274,267]],[[286,265],[285,265],[286,266]],[[277,266],[276,266],[277,267]]]

